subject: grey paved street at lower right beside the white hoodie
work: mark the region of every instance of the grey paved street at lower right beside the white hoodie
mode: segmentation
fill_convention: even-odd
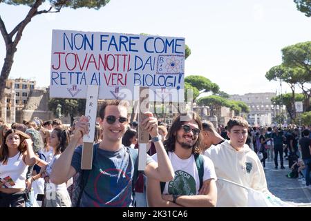
[[[268,189],[278,198],[294,206],[311,207],[311,190],[303,188],[297,179],[285,177],[290,173],[288,160],[284,160],[285,169],[274,169],[274,160],[266,160],[265,177]],[[279,167],[280,168],[280,167]]]

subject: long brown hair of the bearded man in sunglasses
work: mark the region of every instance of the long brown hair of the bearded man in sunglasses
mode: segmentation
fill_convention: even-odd
[[[181,128],[182,124],[184,124],[185,121],[182,119],[188,118],[187,121],[194,119],[196,123],[198,124],[198,128],[202,130],[202,123],[200,116],[194,112],[194,111],[188,111],[187,113],[180,114],[176,119],[173,121],[173,124],[171,124],[171,128],[169,128],[169,133],[167,134],[167,140],[164,141],[164,146],[167,149],[167,151],[173,152],[175,151],[175,142],[176,142],[176,136],[175,133]],[[198,140],[196,140],[196,143],[192,147],[192,153],[199,154],[200,144],[201,144],[201,134],[198,135]]]

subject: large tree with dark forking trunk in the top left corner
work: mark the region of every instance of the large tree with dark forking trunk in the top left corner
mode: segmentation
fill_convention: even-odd
[[[0,16],[0,31],[3,37],[3,40],[6,44],[6,57],[4,59],[4,63],[1,69],[0,75],[0,97],[3,97],[4,88],[6,87],[6,81],[10,75],[10,70],[12,68],[12,64],[14,62],[14,55],[17,51],[17,45],[21,40],[21,35],[23,34],[23,30],[26,28],[28,23],[30,23],[31,19],[37,15],[46,14],[46,13],[56,13],[60,12],[62,8],[95,8],[100,9],[106,6],[106,3],[109,3],[110,0],[100,0],[100,1],[84,1],[84,0],[48,0],[51,4],[50,8],[46,8],[45,10],[39,10],[39,7],[44,3],[45,0],[0,0],[0,3],[7,3],[14,6],[25,5],[29,6],[30,10],[26,15],[25,19],[23,19],[11,32],[8,32],[6,29],[6,25]]]

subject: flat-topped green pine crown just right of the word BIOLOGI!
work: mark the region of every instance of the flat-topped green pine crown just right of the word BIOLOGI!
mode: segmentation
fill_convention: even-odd
[[[199,75],[190,75],[185,77],[185,83],[191,84],[191,86],[197,88],[198,90],[211,91],[213,93],[218,93],[219,86],[209,79]]]

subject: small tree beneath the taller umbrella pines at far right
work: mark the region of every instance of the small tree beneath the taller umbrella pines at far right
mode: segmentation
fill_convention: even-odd
[[[294,122],[296,117],[294,117],[294,106],[292,105],[292,99],[293,99],[292,93],[287,93],[284,95],[278,95],[276,97],[272,97],[271,102],[274,105],[285,105],[286,111],[288,111],[288,115],[290,116],[290,119],[292,120],[292,122]],[[294,95],[294,102],[302,102],[302,101],[303,101],[302,94]]]

